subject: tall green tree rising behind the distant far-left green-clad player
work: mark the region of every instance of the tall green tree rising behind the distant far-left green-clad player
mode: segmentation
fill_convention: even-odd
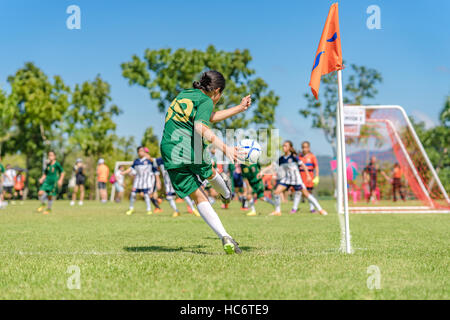
[[[69,88],[59,76],[52,81],[33,63],[28,62],[8,77],[11,93],[7,98],[8,115],[13,114],[7,151],[26,156],[31,195],[38,188],[42,159],[50,147],[55,128],[60,126],[69,107]]]

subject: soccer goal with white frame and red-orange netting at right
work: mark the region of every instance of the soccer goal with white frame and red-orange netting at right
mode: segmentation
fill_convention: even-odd
[[[344,134],[350,212],[450,213],[447,192],[402,107],[345,106]],[[373,157],[375,184],[366,170]]]

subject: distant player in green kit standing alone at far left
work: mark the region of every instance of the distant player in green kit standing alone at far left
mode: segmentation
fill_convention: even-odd
[[[44,211],[44,214],[49,214],[52,211],[53,198],[57,196],[58,188],[61,188],[64,181],[64,169],[56,161],[55,152],[49,151],[47,156],[48,164],[44,170],[44,174],[39,179],[41,187],[38,192],[39,200],[41,200],[41,206],[38,208],[38,212]],[[46,201],[47,209],[45,209]]]

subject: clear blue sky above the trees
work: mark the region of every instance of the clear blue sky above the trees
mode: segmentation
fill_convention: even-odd
[[[329,6],[334,1],[106,1],[0,2],[0,86],[26,61],[69,85],[100,74],[124,113],[117,133],[139,141],[145,128],[163,129],[164,115],[148,92],[130,87],[120,63],[146,48],[248,48],[251,67],[281,97],[276,125],[283,138],[308,139],[316,154],[331,148],[298,110],[305,105],[310,71]],[[66,28],[69,5],[81,8],[81,30]],[[381,29],[369,30],[369,5],[381,9]],[[437,123],[450,94],[450,1],[343,0],[339,18],[343,56],[379,70],[384,82],[370,104],[402,105]],[[345,79],[345,70],[344,79]]]

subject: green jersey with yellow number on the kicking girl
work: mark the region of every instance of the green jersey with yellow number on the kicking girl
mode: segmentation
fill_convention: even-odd
[[[195,132],[194,123],[210,126],[214,103],[198,89],[183,90],[170,104],[161,139],[161,155],[166,169],[210,163],[206,143]],[[198,141],[198,142],[197,142]]]

